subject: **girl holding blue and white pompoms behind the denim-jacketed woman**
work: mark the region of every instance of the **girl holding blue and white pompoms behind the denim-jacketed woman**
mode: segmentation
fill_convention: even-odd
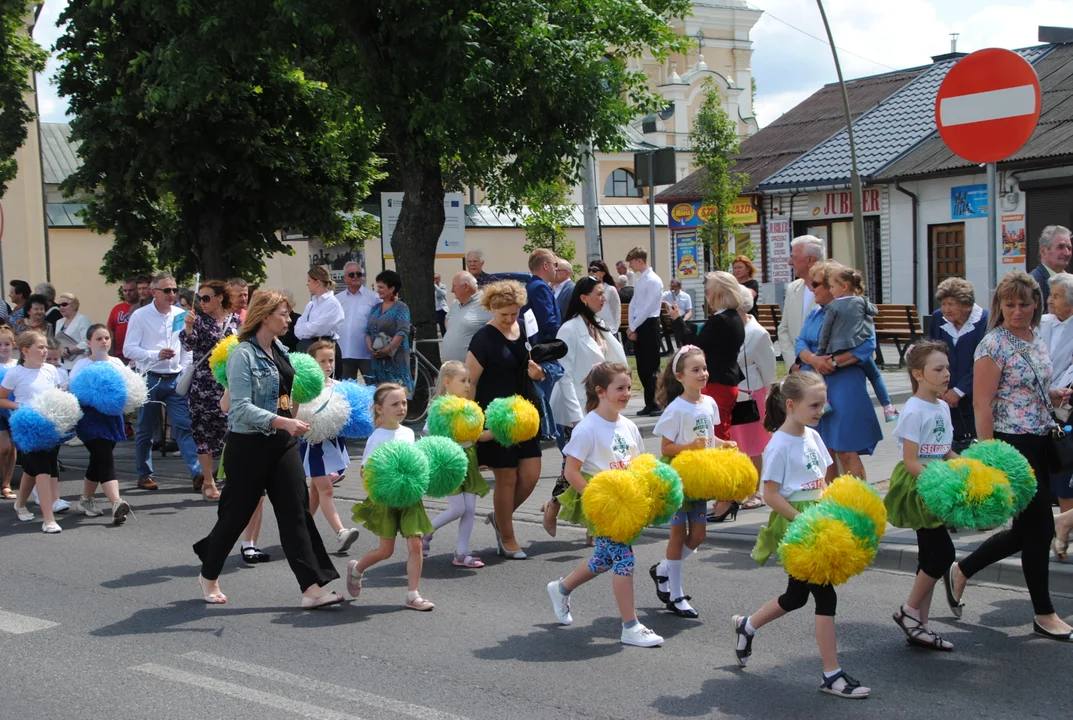
[[[332,386],[332,376],[335,373],[335,342],[318,340],[306,350],[324,371],[324,386]],[[324,514],[324,519],[332,526],[332,531],[339,542],[339,552],[346,553],[357,540],[357,528],[344,528],[339,513],[335,509],[335,489],[333,482],[350,466],[350,455],[342,438],[332,438],[323,442],[309,444],[305,438],[298,441],[302,461],[309,477],[309,512],[317,515],[317,510]]]

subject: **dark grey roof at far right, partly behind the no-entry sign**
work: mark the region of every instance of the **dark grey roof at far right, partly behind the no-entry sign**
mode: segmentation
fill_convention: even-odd
[[[1073,45],[1057,46],[1034,65],[1042,91],[1040,123],[1020,150],[999,163],[1003,166],[1073,156]],[[935,132],[869,180],[882,182],[922,175],[953,174],[975,166],[975,163],[954,155]]]

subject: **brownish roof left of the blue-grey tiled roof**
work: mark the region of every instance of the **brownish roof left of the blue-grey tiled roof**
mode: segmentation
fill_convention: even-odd
[[[861,117],[884,98],[890,97],[926,68],[913,68],[883,75],[872,75],[846,84],[850,99],[850,113]],[[752,192],[760,182],[785,167],[802,153],[815,147],[846,127],[842,113],[842,92],[837,83],[825,85],[793,109],[781,115],[771,124],[741,143],[734,172],[747,173],[749,185],[745,192]],[[656,196],[659,203],[677,203],[701,200],[707,171],[701,168],[671,186]]]

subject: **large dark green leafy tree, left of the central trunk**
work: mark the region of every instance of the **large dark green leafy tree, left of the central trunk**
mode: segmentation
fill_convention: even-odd
[[[157,266],[256,281],[266,254],[290,251],[278,231],[377,233],[356,212],[378,177],[374,128],[273,3],[71,0],[60,23],[83,161],[62,187],[115,233],[109,280]]]

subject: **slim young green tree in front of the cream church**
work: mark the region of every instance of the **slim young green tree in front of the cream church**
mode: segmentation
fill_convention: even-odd
[[[733,259],[731,239],[740,227],[740,223],[733,221],[730,208],[749,185],[749,176],[732,170],[734,156],[738,152],[737,124],[723,109],[719,90],[710,79],[705,83],[704,93],[704,102],[693,117],[693,130],[689,134],[693,161],[705,171],[701,195],[708,216],[699,234],[711,255],[711,267],[725,270]],[[752,254],[751,248],[740,245],[735,251]]]

